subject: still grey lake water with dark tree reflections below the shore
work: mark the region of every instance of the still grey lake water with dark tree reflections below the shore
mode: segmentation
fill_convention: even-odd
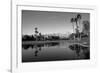
[[[88,47],[66,41],[23,44],[22,62],[90,59]]]

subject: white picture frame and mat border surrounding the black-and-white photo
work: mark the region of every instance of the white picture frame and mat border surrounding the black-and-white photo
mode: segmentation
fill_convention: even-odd
[[[12,59],[12,65],[11,65],[11,69],[12,69],[12,72],[13,73],[18,73],[18,72],[24,72],[24,71],[42,71],[42,70],[54,70],[54,69],[69,69],[69,68],[85,68],[85,67],[93,67],[96,65],[96,60],[97,60],[97,49],[93,50],[92,49],[92,54],[90,57],[92,57],[92,59],[90,60],[76,60],[76,61],[53,61],[53,62],[38,62],[38,63],[35,63],[34,65],[36,66],[40,66],[40,67],[36,67],[36,69],[33,70],[33,64],[31,65],[31,63],[26,63],[26,68],[25,66],[22,67],[22,64],[20,63],[20,61],[17,61],[17,59],[21,59],[21,57],[18,57],[19,55],[21,55],[21,53],[18,53],[20,51],[20,49],[17,49],[19,48],[18,45],[21,44],[21,42],[19,42],[20,40],[18,40],[18,38],[21,38],[20,36],[17,36],[17,35],[20,35],[20,31],[21,31],[21,28],[19,27],[20,26],[20,9],[18,9],[18,6],[26,6],[27,7],[43,7],[43,8],[55,8],[59,10],[59,8],[64,8],[64,9],[83,9],[83,10],[90,10],[90,13],[92,14],[91,16],[91,30],[90,32],[92,32],[92,37],[90,38],[91,39],[91,47],[93,48],[96,48],[96,8],[94,6],[79,6],[79,5],[61,5],[61,4],[35,4],[35,3],[27,3],[27,2],[11,2],[11,13],[12,13],[12,16],[11,16],[11,27],[12,27],[12,42],[11,42],[11,52],[12,52],[12,55],[11,55],[11,59]],[[46,10],[47,11],[47,10]],[[19,15],[17,15],[19,14]],[[18,17],[17,17],[18,16]],[[18,24],[18,25],[17,25]],[[18,41],[17,41],[18,40]],[[17,50],[17,51],[16,51]],[[66,63],[67,62],[67,63]],[[65,65],[66,64],[66,65]],[[77,65],[78,64],[78,65]],[[27,67],[30,67],[31,66],[31,69],[28,69]]]

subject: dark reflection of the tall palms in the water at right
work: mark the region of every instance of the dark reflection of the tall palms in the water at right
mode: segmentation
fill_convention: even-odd
[[[84,56],[84,59],[90,59],[90,51],[88,46],[73,44],[70,45],[69,48],[77,54],[78,58]]]

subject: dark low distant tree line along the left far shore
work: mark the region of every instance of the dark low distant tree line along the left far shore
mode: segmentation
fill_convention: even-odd
[[[48,36],[44,36],[44,35],[23,35],[22,36],[22,41],[53,41],[53,40],[65,40],[67,38],[65,37],[60,37],[57,35],[48,35]]]

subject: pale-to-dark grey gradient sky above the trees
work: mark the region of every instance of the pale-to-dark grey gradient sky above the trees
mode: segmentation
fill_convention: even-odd
[[[70,19],[75,18],[77,14],[75,12],[22,10],[22,34],[34,34],[35,27],[42,34],[72,33],[73,26]],[[82,16],[81,24],[84,20],[90,20],[89,13],[80,14]]]

